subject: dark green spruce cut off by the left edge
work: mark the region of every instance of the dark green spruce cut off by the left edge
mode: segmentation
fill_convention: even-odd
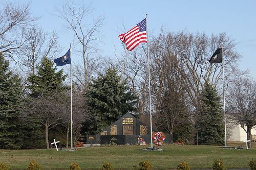
[[[0,149],[19,149],[19,110],[23,100],[20,78],[9,70],[9,62],[0,53]]]

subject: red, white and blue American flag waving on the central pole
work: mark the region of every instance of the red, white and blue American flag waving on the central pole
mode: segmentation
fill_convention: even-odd
[[[146,18],[134,26],[127,33],[118,36],[125,43],[127,50],[132,51],[139,43],[147,42],[146,39]]]

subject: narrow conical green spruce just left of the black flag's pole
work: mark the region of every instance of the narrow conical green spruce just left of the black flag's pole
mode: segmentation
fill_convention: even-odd
[[[196,129],[198,143],[223,145],[225,143],[225,132],[220,97],[216,88],[209,84],[209,82],[205,82],[201,91],[200,107],[197,113]]]

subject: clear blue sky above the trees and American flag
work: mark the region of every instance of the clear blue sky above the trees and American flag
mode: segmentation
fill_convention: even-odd
[[[26,1],[23,1],[26,2]],[[75,1],[74,1],[75,2]],[[83,1],[90,3],[91,1]],[[22,3],[22,1],[19,1]],[[59,42],[65,49],[73,35],[63,30],[63,20],[52,16],[54,7],[62,1],[31,1],[31,12],[40,16],[39,25],[46,31],[56,30]],[[250,69],[250,75],[256,78],[256,1],[92,1],[93,16],[105,16],[102,27],[100,48],[102,56],[114,56],[114,44],[121,49],[118,35],[122,23],[130,29],[148,14],[148,30],[157,35],[161,26],[172,32],[186,29],[188,32],[205,32],[218,34],[226,32],[238,42],[237,51],[243,56],[239,67]],[[67,50],[63,50],[63,54]],[[120,54],[121,51],[119,51]],[[74,56],[73,56],[74,57]],[[72,58],[73,58],[72,57]]]

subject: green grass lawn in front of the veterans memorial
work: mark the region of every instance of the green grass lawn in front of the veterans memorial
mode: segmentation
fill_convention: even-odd
[[[27,169],[35,160],[42,169],[69,169],[78,163],[82,169],[101,169],[110,162],[114,169],[137,169],[142,160],[150,161],[154,169],[176,169],[186,161],[191,169],[211,168],[215,159],[223,160],[227,168],[249,168],[249,161],[256,157],[256,149],[220,149],[218,146],[164,145],[164,151],[143,151],[141,146],[79,148],[72,152],[55,149],[0,150],[0,163],[11,169]]]

